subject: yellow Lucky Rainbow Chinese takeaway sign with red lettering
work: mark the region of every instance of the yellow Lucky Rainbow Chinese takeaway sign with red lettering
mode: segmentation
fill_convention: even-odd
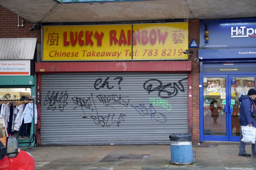
[[[43,61],[186,60],[188,24],[43,26]]]

